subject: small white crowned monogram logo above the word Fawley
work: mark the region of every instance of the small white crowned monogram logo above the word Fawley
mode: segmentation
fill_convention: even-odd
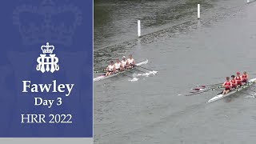
[[[38,57],[38,65],[37,70],[41,70],[42,73],[45,71],[49,71],[54,73],[55,70],[59,70],[58,67],[58,58],[53,54],[54,46],[50,46],[49,42],[46,43],[46,46],[41,46],[41,50],[43,54],[40,54]],[[46,66],[46,67],[45,67]]]

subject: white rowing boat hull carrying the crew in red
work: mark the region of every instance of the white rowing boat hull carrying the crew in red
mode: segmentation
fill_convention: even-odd
[[[225,97],[227,97],[227,96],[229,96],[229,95],[231,95],[231,94],[234,94],[234,93],[236,93],[236,92],[238,92],[238,91],[240,91],[240,90],[246,89],[247,87],[249,87],[250,85],[254,84],[255,82],[256,82],[256,78],[250,79],[249,83],[246,84],[245,86],[241,86],[241,87],[239,87],[239,88],[236,89],[236,90],[232,90],[232,91],[230,91],[228,94],[224,94],[224,95],[223,95],[223,94],[218,94],[218,95],[216,95],[214,98],[210,98],[210,100],[208,101],[208,103],[209,103],[209,102],[215,102],[215,101],[217,101],[217,100],[219,100],[219,99],[222,99],[222,98],[225,98]]]

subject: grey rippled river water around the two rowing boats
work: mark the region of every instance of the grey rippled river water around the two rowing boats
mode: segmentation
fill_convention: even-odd
[[[138,19],[142,38],[137,38]],[[217,91],[184,95],[196,84],[223,82],[236,71],[255,78],[255,26],[256,2],[94,2],[94,70],[133,54],[136,62],[147,58],[144,66],[158,71],[136,82],[122,74],[94,82],[94,142],[254,143],[256,98],[239,92],[207,104]],[[142,72],[127,73],[134,74]]]

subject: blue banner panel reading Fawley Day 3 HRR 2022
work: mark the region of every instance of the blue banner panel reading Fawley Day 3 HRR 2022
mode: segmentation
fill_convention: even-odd
[[[93,137],[93,1],[3,0],[0,137]]]

